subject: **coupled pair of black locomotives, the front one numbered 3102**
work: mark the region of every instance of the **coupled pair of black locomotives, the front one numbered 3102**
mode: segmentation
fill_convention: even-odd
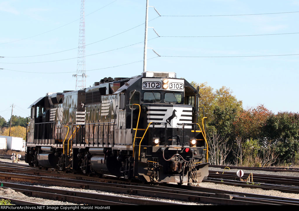
[[[198,90],[171,72],[104,78],[47,93],[31,108],[30,166],[143,181],[201,182],[208,176]]]

